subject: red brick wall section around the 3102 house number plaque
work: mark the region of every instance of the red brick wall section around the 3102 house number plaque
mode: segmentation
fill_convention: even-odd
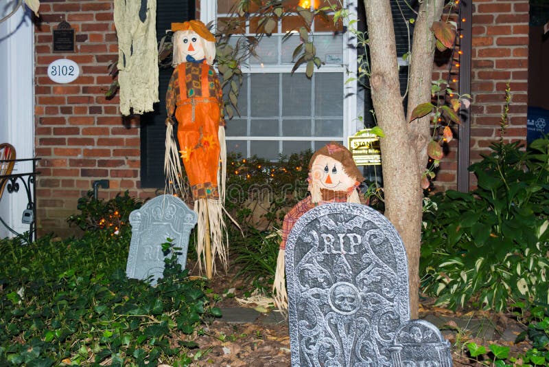
[[[109,179],[110,189],[100,197],[139,190],[139,120],[123,120],[117,97],[104,93],[112,78],[109,60],[117,58],[117,36],[112,0],[42,0],[41,23],[35,28],[36,45],[36,156],[41,157],[37,182],[38,230],[67,230],[66,219],[77,212],[76,203],[96,179]],[[74,53],[52,53],[52,33],[60,21],[75,29]],[[78,63],[80,76],[69,84],[56,84],[47,66],[58,58]]]

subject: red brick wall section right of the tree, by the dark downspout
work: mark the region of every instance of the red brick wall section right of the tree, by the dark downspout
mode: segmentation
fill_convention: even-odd
[[[471,163],[500,137],[506,83],[511,82],[508,141],[526,141],[528,103],[528,0],[475,0],[472,19]],[[456,146],[441,163],[439,190],[456,188]],[[476,177],[470,176],[470,185]]]

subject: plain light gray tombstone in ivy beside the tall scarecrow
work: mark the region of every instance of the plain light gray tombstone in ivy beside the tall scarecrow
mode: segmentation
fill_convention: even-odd
[[[154,197],[140,209],[132,211],[132,241],[126,265],[128,278],[147,279],[152,276],[151,285],[156,285],[156,280],[162,278],[164,272],[162,244],[167,238],[174,240],[174,247],[181,248],[177,262],[185,269],[189,234],[197,219],[196,212],[173,195]]]

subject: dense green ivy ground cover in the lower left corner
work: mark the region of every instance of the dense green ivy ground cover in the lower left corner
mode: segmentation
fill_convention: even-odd
[[[156,287],[126,278],[129,243],[129,232],[101,230],[27,246],[1,240],[0,365],[189,364],[196,344],[180,334],[220,311],[174,256]]]

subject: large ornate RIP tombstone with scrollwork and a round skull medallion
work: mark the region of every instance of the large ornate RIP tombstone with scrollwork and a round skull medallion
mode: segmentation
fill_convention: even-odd
[[[393,225],[364,205],[320,205],[294,225],[285,254],[292,366],[392,366],[410,318]]]

